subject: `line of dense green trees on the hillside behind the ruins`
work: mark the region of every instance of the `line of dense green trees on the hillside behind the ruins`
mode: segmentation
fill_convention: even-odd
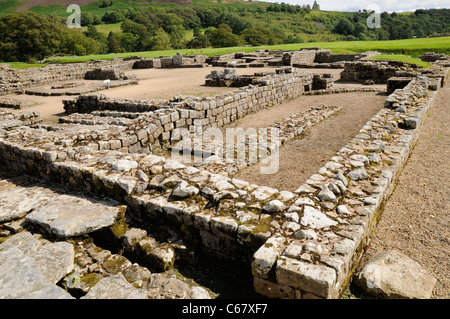
[[[102,5],[111,6],[108,0]],[[393,40],[450,32],[450,9],[381,14],[381,28],[368,28],[370,12],[340,13],[309,5],[149,6],[108,10],[102,17],[82,12],[86,30],[69,29],[66,17],[33,12],[0,18],[0,60],[35,61],[55,54],[85,55],[148,50],[299,43],[315,36],[328,40]],[[97,25],[120,22],[108,35]],[[193,38],[185,39],[186,30]]]

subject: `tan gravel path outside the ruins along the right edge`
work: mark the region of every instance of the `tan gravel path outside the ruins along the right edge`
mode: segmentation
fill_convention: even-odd
[[[449,99],[447,82],[425,119],[361,263],[397,249],[437,278],[432,298],[439,299],[450,297]]]

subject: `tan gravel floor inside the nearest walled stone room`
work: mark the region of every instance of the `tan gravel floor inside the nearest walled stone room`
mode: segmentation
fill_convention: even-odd
[[[301,96],[236,122],[236,127],[265,127],[313,105],[340,105],[343,109],[313,126],[302,139],[289,141],[280,148],[276,174],[260,174],[258,163],[240,170],[235,177],[280,190],[295,191],[312,174],[317,173],[335,153],[347,144],[361,127],[383,108],[386,95],[376,92]]]

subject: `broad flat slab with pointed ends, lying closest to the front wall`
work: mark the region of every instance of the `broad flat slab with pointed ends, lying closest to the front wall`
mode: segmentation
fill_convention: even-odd
[[[69,238],[112,226],[124,209],[125,206],[111,202],[60,195],[37,207],[26,216],[26,220],[57,237]]]

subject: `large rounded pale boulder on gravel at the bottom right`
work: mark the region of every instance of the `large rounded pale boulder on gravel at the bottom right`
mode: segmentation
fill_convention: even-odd
[[[378,297],[429,299],[437,280],[411,258],[390,250],[369,260],[355,282]]]

